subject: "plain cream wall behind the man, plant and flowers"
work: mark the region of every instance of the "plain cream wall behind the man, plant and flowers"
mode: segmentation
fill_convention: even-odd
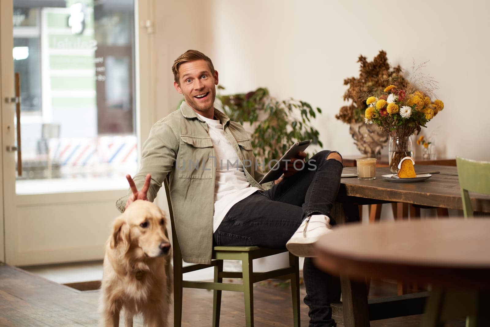
[[[343,79],[358,75],[359,54],[371,60],[383,49],[392,65],[408,69],[413,59],[430,60],[425,72],[439,81],[445,109],[423,134],[437,132],[439,154],[490,160],[485,0],[156,3],[165,16],[156,22],[157,117],[180,99],[172,87],[173,60],[193,48],[213,59],[229,92],[266,86],[278,98],[319,106],[315,125],[325,148],[358,154],[348,126],[334,116],[343,105]]]

